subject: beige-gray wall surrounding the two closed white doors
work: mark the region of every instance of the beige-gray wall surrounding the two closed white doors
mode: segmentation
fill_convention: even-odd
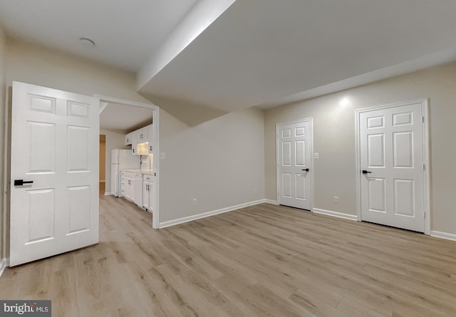
[[[356,214],[355,110],[420,98],[430,98],[431,229],[456,234],[456,63],[266,110],[266,199],[276,200],[276,123],[314,118],[314,207]]]

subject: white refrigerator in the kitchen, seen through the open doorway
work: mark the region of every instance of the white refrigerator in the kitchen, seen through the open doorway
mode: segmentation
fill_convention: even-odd
[[[131,154],[131,150],[115,149],[111,151],[111,194],[122,197],[120,191],[120,171],[139,170],[140,155]]]

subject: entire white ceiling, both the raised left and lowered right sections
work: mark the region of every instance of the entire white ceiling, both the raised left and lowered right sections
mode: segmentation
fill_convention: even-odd
[[[194,14],[199,4],[222,2],[228,9],[220,16]],[[267,108],[456,59],[455,0],[232,2],[0,0],[0,21],[9,36],[140,71],[139,92],[152,101],[224,111]],[[204,20],[190,41],[175,43],[183,38],[177,31]],[[80,37],[96,46],[81,45]],[[165,56],[168,42],[179,48],[174,55]],[[150,65],[160,68],[147,77]]]

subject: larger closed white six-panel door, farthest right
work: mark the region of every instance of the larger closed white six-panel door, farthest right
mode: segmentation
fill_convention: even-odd
[[[424,232],[423,105],[359,115],[361,219]]]

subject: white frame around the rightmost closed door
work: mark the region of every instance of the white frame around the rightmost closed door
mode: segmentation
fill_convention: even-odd
[[[402,107],[404,105],[410,105],[413,103],[420,103],[422,105],[423,111],[423,182],[424,182],[424,192],[423,206],[425,208],[425,234],[430,235],[430,164],[429,164],[429,106],[428,100],[419,99],[419,100],[410,100],[403,103],[393,103],[389,105],[380,105],[378,107],[372,108],[363,108],[356,110],[356,215],[358,217],[358,222],[361,222],[361,135],[360,135],[360,115],[361,113],[370,112],[373,110],[382,110],[387,108],[396,108]]]

